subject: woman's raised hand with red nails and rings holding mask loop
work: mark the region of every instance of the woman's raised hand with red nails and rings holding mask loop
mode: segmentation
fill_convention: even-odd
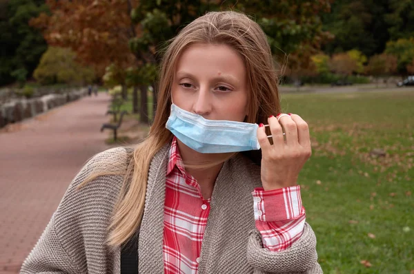
[[[293,187],[297,185],[299,171],[312,154],[308,124],[299,115],[279,114],[277,117],[270,116],[268,125],[273,145],[270,145],[264,125],[260,124],[257,129],[262,148],[263,188],[273,190]]]

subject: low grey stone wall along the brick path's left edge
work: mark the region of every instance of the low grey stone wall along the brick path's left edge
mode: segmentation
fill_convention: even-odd
[[[81,89],[63,94],[48,94],[39,98],[14,99],[0,105],[0,128],[8,123],[17,123],[23,119],[47,112],[54,107],[78,100],[86,94],[88,94],[88,90]]]

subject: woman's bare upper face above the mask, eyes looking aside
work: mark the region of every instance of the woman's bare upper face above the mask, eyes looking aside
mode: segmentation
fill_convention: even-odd
[[[209,120],[242,122],[248,87],[242,58],[228,45],[195,44],[177,62],[172,103]]]

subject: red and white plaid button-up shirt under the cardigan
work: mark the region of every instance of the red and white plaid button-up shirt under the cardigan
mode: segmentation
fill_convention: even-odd
[[[264,246],[282,251],[299,239],[305,223],[299,186],[253,192],[253,211]],[[177,139],[172,140],[164,204],[164,273],[198,273],[201,241],[210,213],[197,180],[185,169]]]

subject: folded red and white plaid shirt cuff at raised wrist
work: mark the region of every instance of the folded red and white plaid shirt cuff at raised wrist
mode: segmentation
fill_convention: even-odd
[[[258,187],[252,195],[256,221],[291,220],[303,214],[299,185],[268,191]]]

